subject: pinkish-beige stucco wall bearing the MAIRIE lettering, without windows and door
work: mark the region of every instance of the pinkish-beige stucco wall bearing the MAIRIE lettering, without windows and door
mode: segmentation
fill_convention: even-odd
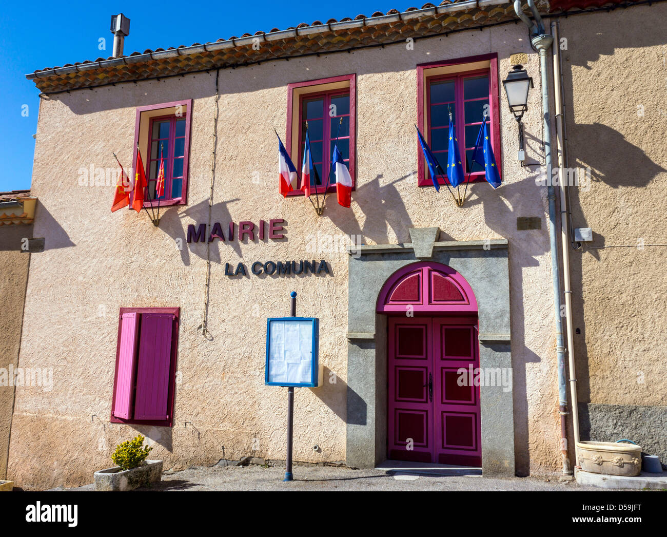
[[[441,239],[507,237],[510,241],[512,354],[517,468],[558,468],[560,455],[553,302],[546,189],[540,167],[521,168],[516,121],[501,95],[505,184],[472,186],[464,208],[449,193],[416,186],[416,65],[498,52],[500,77],[509,56],[529,55],[536,87],[526,133],[542,138],[536,54],[522,25],[458,33],[415,43],[220,71],[219,145],[211,220],[282,217],[285,241],[211,245],[211,340],[196,330],[203,315],[206,250],[185,244],[189,223],[208,220],[215,73],[72,91],[41,101],[33,191],[41,215],[35,234],[46,250],[33,255],[21,364],[53,367],[48,396],[17,390],[9,470],[26,488],[91,482],[111,465],[115,444],[139,431],[155,440],[165,468],[214,464],[255,454],[285,456],[286,390],[263,385],[265,318],[297,312],[320,318],[320,357],[337,384],[295,395],[294,458],[336,461],[346,444],[347,266],[344,252],[307,252],[309,233],[361,233],[366,243],[410,241],[408,228],[438,226]],[[317,217],[303,198],[277,193],[273,127],[285,131],[287,83],[357,73],[357,189],[352,210],[327,199]],[[145,213],[110,213],[113,187],[81,187],[77,170],[129,166],[135,107],[193,98],[186,207],[164,211],[159,227]],[[529,157],[543,160],[529,141]],[[497,155],[498,156],[498,155]],[[258,175],[257,175],[258,174]],[[259,177],[253,183],[253,177]],[[400,179],[400,180],[399,180]],[[517,231],[516,218],[542,217],[542,230]],[[183,249],[177,241],[182,239]],[[224,263],[327,259],[332,277],[224,276]],[[464,275],[465,276],[465,275]],[[350,297],[354,300],[354,297]],[[109,423],[121,306],[180,306],[175,420],[172,429]],[[185,422],[189,422],[184,426]],[[484,432],[482,432],[484,434]],[[255,446],[253,439],[256,438]],[[314,452],[317,444],[321,452]],[[253,451],[253,447],[257,448]]]

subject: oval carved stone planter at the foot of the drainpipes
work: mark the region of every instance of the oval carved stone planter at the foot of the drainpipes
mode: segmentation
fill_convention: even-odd
[[[642,446],[615,442],[577,442],[577,461],[584,472],[610,476],[638,476]]]

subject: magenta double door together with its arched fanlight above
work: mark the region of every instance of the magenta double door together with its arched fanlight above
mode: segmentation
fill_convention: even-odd
[[[478,306],[456,270],[412,263],[384,284],[390,459],[482,466]],[[477,370],[478,371],[478,370]]]

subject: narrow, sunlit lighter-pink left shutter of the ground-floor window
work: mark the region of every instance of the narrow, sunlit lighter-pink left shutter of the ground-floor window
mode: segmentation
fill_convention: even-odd
[[[125,420],[131,418],[134,387],[135,350],[137,348],[137,314],[121,316],[121,342],[116,370],[115,398],[112,414]]]

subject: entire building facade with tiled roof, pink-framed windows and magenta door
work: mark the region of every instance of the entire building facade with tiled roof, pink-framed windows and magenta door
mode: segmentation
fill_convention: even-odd
[[[554,168],[567,157],[592,169],[568,187],[570,227],[594,231],[571,241],[569,267],[581,438],[631,438],[664,457],[667,155],[650,140],[667,115],[664,77],[642,73],[666,68],[656,36],[667,12],[556,4],[539,7],[546,32],[566,39],[562,154],[554,49],[543,91],[526,25],[493,0],[29,75],[42,92],[31,191],[44,249],[30,261],[18,365],[50,370],[53,386],[15,388],[9,478],[89,482],[137,432],[165,468],[284,459],[286,390],[264,385],[265,320],[289,313],[291,291],[298,315],[319,318],[324,368],[323,386],[296,390],[295,460],[524,476],[562,471],[564,450],[576,464],[571,398],[566,435],[559,412],[549,152]],[[654,32],[638,31],[646,25]],[[500,84],[517,60],[534,85],[523,161]],[[484,168],[470,169],[462,206],[446,179],[434,189],[414,127],[444,163],[450,111],[468,159],[488,112],[502,178],[493,189]],[[300,168],[306,122],[323,183],[341,149],[350,208],[335,186],[321,215],[311,201],[325,185],[310,201],[302,189],[279,194],[273,129]],[[156,201],[108,210],[114,155],[132,176],[137,147],[147,199],[164,157],[157,225]],[[556,260],[562,275],[562,251]],[[647,338],[646,324],[659,333]],[[482,386],[462,385],[460,368],[481,372]]]

